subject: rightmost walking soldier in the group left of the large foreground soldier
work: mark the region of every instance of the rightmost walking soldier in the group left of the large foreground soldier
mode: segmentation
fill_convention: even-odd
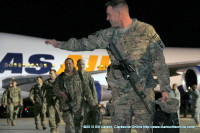
[[[89,125],[87,121],[91,121],[91,118],[87,115],[89,111],[95,109],[95,105],[98,104],[97,101],[97,92],[94,84],[94,79],[92,76],[84,71],[85,69],[85,61],[83,59],[79,59],[77,61],[78,73],[82,80],[82,100],[79,110],[75,114],[75,130],[76,133],[82,133],[83,125]],[[98,108],[97,108],[98,109]],[[97,114],[98,115],[98,114]],[[98,116],[93,116],[98,117]],[[84,124],[83,124],[84,123]],[[92,125],[97,125],[99,123],[94,123]],[[84,133],[97,133],[98,128],[85,128],[83,129]]]

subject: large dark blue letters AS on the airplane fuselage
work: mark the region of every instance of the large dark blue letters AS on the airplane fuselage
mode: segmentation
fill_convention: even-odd
[[[54,60],[53,55],[49,54],[35,54],[31,55],[28,62],[29,64],[45,64],[45,67],[31,68],[26,67],[25,71],[30,74],[44,74],[47,73],[52,64],[47,61],[41,61],[41,59],[45,60]],[[11,73],[22,73],[23,67],[23,54],[22,53],[7,53],[6,56],[0,62],[0,73],[4,73],[4,71],[11,71]]]

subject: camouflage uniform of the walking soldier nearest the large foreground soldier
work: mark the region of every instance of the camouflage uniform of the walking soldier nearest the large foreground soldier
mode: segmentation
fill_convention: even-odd
[[[94,85],[94,79],[92,76],[85,71],[80,72],[79,71],[79,76],[82,76],[83,81],[82,81],[82,99],[81,99],[81,105],[79,110],[75,113],[75,130],[76,133],[82,133],[82,128],[83,125],[85,125],[85,122],[87,119],[88,112],[93,108],[94,105],[97,105],[97,92],[96,88]],[[95,117],[95,116],[94,116]],[[83,124],[84,123],[84,124]],[[95,124],[93,124],[95,125]],[[89,129],[92,130],[92,129]],[[83,132],[85,133],[86,131],[83,129]],[[88,131],[87,131],[88,133]],[[95,133],[97,133],[95,131]]]

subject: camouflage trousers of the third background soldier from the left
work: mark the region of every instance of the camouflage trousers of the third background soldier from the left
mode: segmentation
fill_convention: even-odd
[[[58,128],[60,122],[61,122],[61,112],[59,110],[59,103],[56,103],[55,105],[47,104],[47,111],[49,114],[49,127],[51,129]]]

